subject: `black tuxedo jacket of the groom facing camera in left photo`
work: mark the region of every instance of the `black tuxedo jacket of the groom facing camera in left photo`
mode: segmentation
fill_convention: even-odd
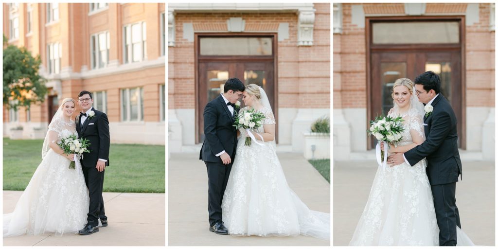
[[[97,111],[92,107],[95,116],[90,119],[87,117],[85,123],[80,125],[81,114],[76,117],[76,131],[80,138],[86,138],[90,142],[88,147],[90,153],[83,153],[81,164],[84,167],[95,167],[99,158],[107,160],[106,166],[109,166],[109,146],[111,138],[109,136],[109,120],[103,112]]]

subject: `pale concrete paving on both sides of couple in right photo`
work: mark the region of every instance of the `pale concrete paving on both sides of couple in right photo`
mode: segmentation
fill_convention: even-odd
[[[376,162],[334,162],[334,246],[348,246],[367,203]],[[462,230],[476,245],[495,246],[495,162],[463,161],[456,199]]]

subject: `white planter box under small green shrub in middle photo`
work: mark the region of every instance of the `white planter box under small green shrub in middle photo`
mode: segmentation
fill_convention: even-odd
[[[315,148],[314,152],[313,147]],[[330,133],[304,133],[304,158],[329,159]]]

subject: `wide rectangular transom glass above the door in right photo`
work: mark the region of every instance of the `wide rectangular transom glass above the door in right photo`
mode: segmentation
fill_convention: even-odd
[[[373,44],[459,43],[456,21],[373,23]]]

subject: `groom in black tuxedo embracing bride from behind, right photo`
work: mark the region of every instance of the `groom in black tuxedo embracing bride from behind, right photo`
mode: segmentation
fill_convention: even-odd
[[[457,145],[457,118],[450,103],[441,91],[437,74],[427,71],[415,78],[415,90],[425,105],[424,131],[426,140],[403,153],[388,157],[389,166],[406,162],[415,165],[427,159],[427,177],[431,184],[434,208],[439,227],[439,245],[456,246],[460,216],[455,200],[458,175],[462,175],[462,162]]]

